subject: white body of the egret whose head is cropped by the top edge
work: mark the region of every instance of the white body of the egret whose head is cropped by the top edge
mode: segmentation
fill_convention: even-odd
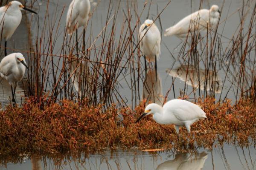
[[[90,13],[90,0],[73,0],[67,11],[68,34],[81,26],[86,26]]]

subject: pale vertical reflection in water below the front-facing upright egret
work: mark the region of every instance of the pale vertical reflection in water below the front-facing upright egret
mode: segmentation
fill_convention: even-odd
[[[162,80],[155,70],[149,70],[146,74],[146,79],[143,82],[142,98],[146,100],[146,103],[154,102],[159,105],[163,104]]]

